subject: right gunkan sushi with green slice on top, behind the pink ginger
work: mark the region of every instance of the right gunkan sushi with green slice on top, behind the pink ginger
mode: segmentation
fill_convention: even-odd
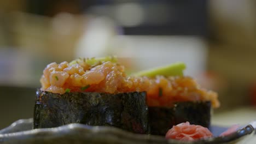
[[[165,135],[173,125],[184,122],[210,127],[212,107],[220,105],[218,94],[184,76],[184,69],[183,63],[174,63],[135,74],[151,81],[147,90],[151,134]]]

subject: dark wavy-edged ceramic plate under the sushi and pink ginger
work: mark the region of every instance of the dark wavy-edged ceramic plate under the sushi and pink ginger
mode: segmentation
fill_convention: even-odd
[[[32,129],[33,119],[21,119],[9,127],[0,130],[0,143],[237,143],[253,136],[251,124],[228,136],[214,137],[207,140],[182,142],[165,140],[163,136],[133,134],[114,127],[68,124],[57,128]],[[226,128],[211,127],[214,135],[219,135]]]

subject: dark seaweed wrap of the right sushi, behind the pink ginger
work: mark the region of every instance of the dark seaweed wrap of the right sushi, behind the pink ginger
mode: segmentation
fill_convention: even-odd
[[[184,122],[209,128],[211,102],[184,101],[175,103],[173,107],[149,107],[150,134],[165,135],[173,125]]]

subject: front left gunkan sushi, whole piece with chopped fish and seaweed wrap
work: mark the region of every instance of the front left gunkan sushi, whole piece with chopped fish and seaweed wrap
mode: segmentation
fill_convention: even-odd
[[[125,86],[124,68],[115,61],[106,57],[49,64],[36,94],[34,128],[82,123],[148,134],[146,92]]]

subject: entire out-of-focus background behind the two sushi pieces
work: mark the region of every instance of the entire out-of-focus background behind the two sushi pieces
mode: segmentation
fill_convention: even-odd
[[[33,117],[46,64],[115,55],[127,71],[177,61],[219,93],[212,122],[256,120],[256,1],[0,1],[0,129]]]

